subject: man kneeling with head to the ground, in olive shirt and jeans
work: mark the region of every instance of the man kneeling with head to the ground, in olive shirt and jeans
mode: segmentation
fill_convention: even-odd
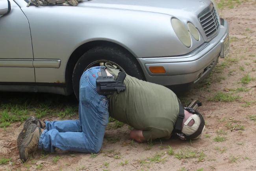
[[[165,86],[126,75],[125,90],[101,93],[96,79],[117,80],[119,70],[111,64],[86,70],[80,79],[79,120],[41,121],[30,116],[24,123],[17,145],[20,159],[26,162],[35,149],[98,153],[109,116],[134,127],[130,138],[137,142],[166,138],[197,139],[204,130],[202,115],[183,108],[179,99]],[[112,81],[113,81],[112,80]],[[106,87],[105,87],[106,88]]]

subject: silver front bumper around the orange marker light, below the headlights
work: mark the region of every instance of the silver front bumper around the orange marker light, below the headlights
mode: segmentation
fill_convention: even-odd
[[[193,85],[200,82],[215,67],[221,51],[221,40],[229,33],[228,22],[221,18],[221,28],[210,42],[203,43],[196,50],[182,56],[137,58],[148,82],[170,85]],[[164,74],[152,74],[150,66],[163,66]]]

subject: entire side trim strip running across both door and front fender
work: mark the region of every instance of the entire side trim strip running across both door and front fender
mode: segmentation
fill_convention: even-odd
[[[60,59],[0,59],[0,67],[59,68]]]

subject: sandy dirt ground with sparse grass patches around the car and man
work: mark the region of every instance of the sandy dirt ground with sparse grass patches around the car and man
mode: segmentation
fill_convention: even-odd
[[[98,154],[58,149],[49,154],[36,151],[29,161],[22,164],[16,142],[23,128],[20,117],[10,126],[7,122],[2,123],[0,128],[0,170],[256,170],[256,2],[228,0],[219,1],[219,6],[221,17],[228,20],[230,26],[228,57],[219,59],[209,78],[186,96],[180,96],[183,104],[195,98],[203,103],[199,111],[204,115],[206,129],[200,139],[187,142],[174,137],[171,140],[137,143],[129,139],[128,125],[113,121],[106,130]],[[69,103],[69,97],[44,95],[46,97],[41,98],[41,95],[1,93],[0,119],[4,117],[5,108],[19,114],[19,111],[12,110],[15,104],[25,106],[22,111],[28,115],[42,114],[40,116],[45,120],[77,119],[77,104]],[[35,108],[26,109],[29,101],[35,101]],[[42,111],[46,111],[42,109],[43,105],[50,111],[58,110],[58,115],[43,115]],[[71,110],[72,116],[65,115],[69,113],[65,111]],[[11,159],[5,161],[6,158]]]

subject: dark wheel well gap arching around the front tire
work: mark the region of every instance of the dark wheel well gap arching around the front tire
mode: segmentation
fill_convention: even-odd
[[[75,67],[78,59],[85,52],[87,52],[88,50],[90,50],[90,49],[92,49],[96,46],[111,46],[113,48],[117,47],[117,48],[125,51],[126,53],[130,53],[132,55],[132,53],[130,51],[128,51],[126,48],[122,47],[121,45],[113,43],[113,42],[105,41],[105,40],[95,40],[95,41],[91,41],[91,42],[87,42],[85,44],[82,44],[81,46],[76,48],[76,50],[74,50],[73,53],[70,55],[67,66],[66,66],[65,80],[66,80],[66,86],[67,86],[68,94],[72,94],[72,92],[73,92],[72,74],[73,74],[73,70],[74,70],[74,67]],[[134,56],[134,55],[132,55],[132,56]],[[137,61],[137,63],[138,63],[138,61]],[[141,69],[141,71],[142,71],[142,69]]]

